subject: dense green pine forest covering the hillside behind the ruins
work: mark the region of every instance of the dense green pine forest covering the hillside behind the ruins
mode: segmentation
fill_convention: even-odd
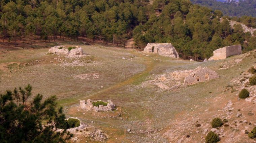
[[[255,48],[255,37],[231,29],[219,10],[193,5],[190,0],[14,0],[1,1],[0,35],[32,43],[88,38],[124,45],[134,38],[139,49],[147,43],[172,43],[184,59],[202,60],[232,44]],[[232,17],[256,27],[253,17]],[[241,28],[240,28],[241,29]]]

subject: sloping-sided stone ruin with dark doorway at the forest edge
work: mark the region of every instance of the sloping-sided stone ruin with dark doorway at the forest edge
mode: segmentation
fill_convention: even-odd
[[[178,52],[171,43],[148,43],[143,52],[157,53],[166,57],[179,58]]]

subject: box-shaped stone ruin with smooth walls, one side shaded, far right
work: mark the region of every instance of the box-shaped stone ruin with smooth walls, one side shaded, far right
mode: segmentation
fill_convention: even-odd
[[[211,60],[222,60],[229,56],[242,54],[241,45],[227,46],[213,51],[213,56],[208,59]]]

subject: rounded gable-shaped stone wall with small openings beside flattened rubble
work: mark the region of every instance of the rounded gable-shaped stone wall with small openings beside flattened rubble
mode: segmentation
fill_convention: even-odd
[[[196,68],[184,79],[184,85],[193,85],[199,82],[206,82],[211,79],[219,78],[220,76],[209,68]]]

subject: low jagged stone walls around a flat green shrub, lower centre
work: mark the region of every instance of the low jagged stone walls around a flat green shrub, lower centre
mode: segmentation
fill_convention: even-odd
[[[101,100],[98,100],[101,101]],[[97,101],[95,101],[97,102]],[[105,102],[105,101],[104,101]],[[83,110],[86,111],[95,111],[95,112],[99,112],[99,111],[113,111],[116,107],[115,104],[113,104],[113,102],[111,100],[107,100],[107,105],[99,105],[97,106],[93,106],[91,99],[87,99],[87,101],[85,102],[85,100],[80,100],[80,107]]]

